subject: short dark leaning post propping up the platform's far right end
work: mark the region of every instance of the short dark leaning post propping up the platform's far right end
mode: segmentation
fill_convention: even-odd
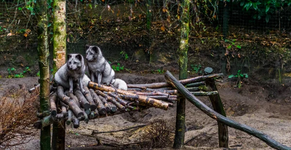
[[[215,81],[213,79],[207,79],[206,85],[209,85],[212,90],[217,91]],[[226,113],[221,102],[221,98],[219,93],[217,92],[216,95],[209,96],[211,104],[213,106],[214,111],[221,114],[222,116],[226,117]],[[228,148],[228,129],[227,126],[219,121],[218,123],[218,139],[219,139],[219,147],[220,148]]]

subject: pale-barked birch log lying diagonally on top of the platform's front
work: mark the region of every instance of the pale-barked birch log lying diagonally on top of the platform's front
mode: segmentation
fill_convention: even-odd
[[[95,90],[115,92],[115,89],[113,89],[112,87],[98,85],[97,83],[94,83],[94,82],[91,82],[91,81],[89,82],[88,86],[90,88],[92,88],[92,89],[95,89]],[[126,90],[120,90],[120,89],[117,89],[117,92],[120,93],[120,94],[126,94],[126,95],[137,95],[137,94],[130,93],[130,92],[126,91]],[[156,107],[156,108],[161,108],[161,109],[164,109],[164,110],[167,110],[168,107],[169,107],[169,103],[162,102],[162,101],[159,101],[159,100],[156,100],[156,99],[153,99],[153,98],[149,98],[149,97],[146,97],[146,96],[143,96],[143,95],[137,95],[137,96],[138,96],[138,101],[140,103],[144,103],[146,105],[153,106],[153,107]]]

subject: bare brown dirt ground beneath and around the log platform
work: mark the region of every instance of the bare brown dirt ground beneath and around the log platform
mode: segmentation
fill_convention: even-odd
[[[178,75],[175,75],[178,77]],[[163,82],[163,74],[117,74],[129,84]],[[30,88],[37,83],[38,77],[25,77],[13,79],[0,79],[0,96],[8,89],[19,89],[19,85]],[[249,82],[251,83],[251,82]],[[243,84],[242,88],[234,88],[234,83],[227,81],[217,82],[217,88],[224,104],[228,118],[251,126],[276,141],[291,147],[291,96],[287,88],[277,98],[269,99],[269,91],[258,84]],[[209,98],[198,97],[203,103],[211,107]],[[113,131],[125,129],[131,126],[142,125],[156,119],[166,120],[168,125],[175,126],[176,105],[167,111],[157,108],[149,108],[142,112],[124,113],[90,120],[88,124],[81,122],[78,129],[66,126],[66,150],[111,150],[113,147],[98,147],[96,138],[91,135],[92,130]],[[186,128],[185,141],[190,140],[185,149],[188,150],[223,150],[218,148],[217,122],[204,114],[194,105],[186,102]],[[143,135],[143,128],[128,131],[98,134],[103,143],[133,143],[138,142]],[[228,128],[229,146],[237,150],[273,150],[258,138],[243,133],[239,130]],[[105,140],[103,139],[105,138]],[[29,142],[17,146],[15,150],[39,150],[39,133]],[[166,148],[163,150],[169,150]]]

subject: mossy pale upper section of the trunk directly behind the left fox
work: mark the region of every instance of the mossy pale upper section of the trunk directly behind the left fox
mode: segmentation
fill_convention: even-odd
[[[66,26],[65,0],[53,1],[53,75],[65,64]]]

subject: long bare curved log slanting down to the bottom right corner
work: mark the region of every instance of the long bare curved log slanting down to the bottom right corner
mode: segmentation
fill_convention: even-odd
[[[195,105],[198,109],[203,111],[205,114],[207,114],[209,117],[211,117],[214,120],[218,120],[221,123],[226,124],[229,127],[241,130],[249,135],[253,135],[260,140],[264,141],[266,144],[271,146],[274,149],[277,150],[291,150],[290,147],[287,147],[285,145],[282,145],[272,139],[270,136],[263,134],[262,132],[249,127],[245,124],[238,123],[236,121],[230,120],[223,115],[217,113],[216,111],[212,110],[210,107],[202,103],[199,99],[197,99],[189,90],[187,90],[182,84],[178,82],[178,80],[169,72],[167,71],[165,73],[165,78],[167,82],[169,82],[173,87],[175,87],[189,102],[191,102],[193,105]]]

